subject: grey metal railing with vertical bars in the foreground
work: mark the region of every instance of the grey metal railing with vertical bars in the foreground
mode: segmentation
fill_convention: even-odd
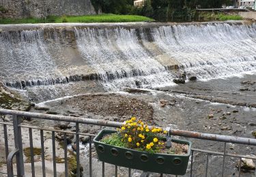
[[[41,172],[42,176],[46,176],[46,162],[45,162],[45,142],[44,142],[44,133],[51,132],[51,139],[52,139],[52,161],[53,161],[53,176],[57,176],[57,156],[56,156],[56,133],[63,133],[63,151],[64,151],[64,174],[65,176],[69,175],[69,167],[68,167],[68,140],[67,135],[74,134],[75,136],[75,144],[76,144],[76,176],[81,176],[81,162],[80,162],[80,136],[81,135],[87,135],[89,136],[88,144],[89,144],[89,172],[85,172],[87,176],[93,176],[93,165],[92,165],[92,139],[94,138],[94,134],[89,133],[82,133],[79,129],[80,125],[98,125],[98,126],[104,126],[104,127],[121,127],[122,123],[117,123],[114,121],[106,121],[106,120],[94,120],[90,118],[78,118],[73,116],[57,116],[57,115],[50,115],[50,114],[40,114],[40,113],[32,113],[32,112],[21,112],[16,110],[4,110],[0,109],[0,115],[12,115],[12,123],[8,122],[0,122],[0,125],[3,125],[3,137],[4,137],[4,147],[5,147],[5,162],[2,162],[2,164],[6,164],[7,166],[7,172],[3,172],[3,167],[1,168],[1,161],[0,161],[0,174],[5,174],[9,176],[25,176],[25,162],[24,162],[24,152],[23,152],[23,135],[22,129],[28,129],[28,135],[29,135],[29,153],[30,153],[30,160],[29,163],[31,163],[31,176],[36,176],[35,171],[35,159],[34,159],[34,149],[33,149],[33,130],[40,131],[40,158],[42,162],[41,166]],[[54,120],[54,121],[63,121],[63,122],[69,122],[69,123],[76,123],[76,129],[75,131],[64,131],[60,129],[54,129],[54,128],[45,128],[45,127],[38,127],[38,126],[31,126],[31,125],[23,125],[21,124],[22,118],[38,118],[43,120]],[[10,144],[10,135],[8,134],[8,127],[12,127],[13,130],[13,136],[14,136],[14,145],[12,146]],[[10,130],[9,130],[10,131]],[[1,126],[0,126],[0,132],[1,132]],[[225,161],[227,157],[234,157],[239,159],[238,163],[238,176],[241,174],[241,164],[242,164],[242,158],[246,159],[253,159],[256,160],[256,157],[254,156],[248,156],[248,155],[238,155],[227,152],[227,143],[235,143],[235,144],[244,144],[244,145],[252,145],[256,146],[256,140],[251,138],[240,138],[240,137],[234,137],[234,136],[227,136],[227,135],[215,135],[215,134],[208,134],[208,133],[198,133],[193,131],[183,131],[183,130],[177,130],[177,129],[171,129],[172,135],[182,136],[186,138],[193,138],[199,139],[199,140],[210,140],[210,141],[216,141],[216,142],[224,142],[224,150],[223,152],[218,151],[212,151],[212,150],[203,150],[199,148],[192,148],[192,153],[190,157],[190,167],[188,167],[187,174],[189,176],[194,176],[194,163],[195,163],[195,153],[204,153],[206,155],[206,162],[205,162],[205,176],[208,176],[208,167],[209,167],[209,159],[211,156],[221,156],[223,157],[222,165],[220,165],[221,175],[224,176],[225,173]],[[1,140],[1,139],[0,139]],[[192,140],[192,141],[193,141]],[[0,144],[1,146],[1,144]],[[10,151],[10,148],[14,148]],[[16,157],[16,174],[14,174],[14,167],[13,167],[13,159]],[[2,170],[1,170],[2,169]],[[117,176],[118,167],[115,165],[115,176]],[[143,172],[143,175],[145,175],[145,172]],[[101,176],[105,176],[105,163],[102,162],[102,174]],[[132,176],[132,170],[128,169],[128,176]],[[163,174],[160,174],[160,176],[163,176]]]

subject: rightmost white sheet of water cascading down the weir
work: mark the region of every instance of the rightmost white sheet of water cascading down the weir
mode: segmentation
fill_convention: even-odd
[[[152,29],[154,43],[201,79],[256,70],[256,25],[174,25]]]

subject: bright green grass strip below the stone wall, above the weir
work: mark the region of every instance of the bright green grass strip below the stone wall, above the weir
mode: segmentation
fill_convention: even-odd
[[[134,15],[100,14],[91,16],[48,16],[48,18],[0,19],[0,24],[48,23],[48,22],[142,22],[152,18]]]

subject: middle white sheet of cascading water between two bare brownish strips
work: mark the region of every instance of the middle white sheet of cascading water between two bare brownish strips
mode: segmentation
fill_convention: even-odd
[[[107,90],[173,84],[173,75],[143,48],[135,29],[76,29],[75,33],[79,51]]]

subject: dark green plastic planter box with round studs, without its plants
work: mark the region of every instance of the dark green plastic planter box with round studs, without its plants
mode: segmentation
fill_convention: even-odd
[[[191,152],[191,142],[186,140],[171,140],[172,142],[188,144],[189,148],[187,155],[169,155],[160,153],[151,154],[149,152],[112,146],[100,142],[104,135],[116,132],[117,131],[104,129],[100,131],[100,133],[98,133],[98,135],[94,138],[94,145],[100,161],[122,167],[143,170],[145,172],[174,175],[186,174],[188,159]]]

